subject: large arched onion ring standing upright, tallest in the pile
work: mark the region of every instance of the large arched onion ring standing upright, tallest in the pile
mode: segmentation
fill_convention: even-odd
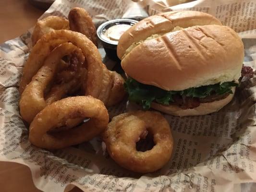
[[[102,62],[97,47],[83,34],[68,30],[52,31],[37,41],[24,66],[19,91],[22,93],[32,77],[43,65],[52,49],[65,42],[80,48],[87,61],[87,81],[85,95],[98,97],[102,83]]]

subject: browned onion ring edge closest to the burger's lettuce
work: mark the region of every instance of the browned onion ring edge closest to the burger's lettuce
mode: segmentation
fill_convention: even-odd
[[[110,91],[110,96],[108,98],[107,106],[112,106],[120,101],[122,101],[123,97],[125,96],[126,92],[124,90],[124,79],[122,76],[117,72],[109,71],[111,78],[112,78],[112,88]]]

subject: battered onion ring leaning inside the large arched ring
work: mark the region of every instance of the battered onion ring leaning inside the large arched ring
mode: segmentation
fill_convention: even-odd
[[[20,98],[20,113],[22,118],[30,123],[39,111],[46,107],[44,92],[53,79],[61,58],[74,51],[81,51],[71,43],[64,43],[55,48],[46,58],[32,81],[26,86]]]

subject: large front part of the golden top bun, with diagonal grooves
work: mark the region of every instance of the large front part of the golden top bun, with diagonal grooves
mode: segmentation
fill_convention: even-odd
[[[192,26],[147,40],[123,59],[126,74],[164,90],[238,81],[244,45],[231,28]]]

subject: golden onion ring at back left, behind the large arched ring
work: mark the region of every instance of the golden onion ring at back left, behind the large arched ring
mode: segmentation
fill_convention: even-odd
[[[32,44],[36,45],[37,41],[45,34],[61,29],[69,29],[69,21],[63,17],[59,16],[48,16],[40,21],[37,21],[37,24],[34,28],[32,34]]]

